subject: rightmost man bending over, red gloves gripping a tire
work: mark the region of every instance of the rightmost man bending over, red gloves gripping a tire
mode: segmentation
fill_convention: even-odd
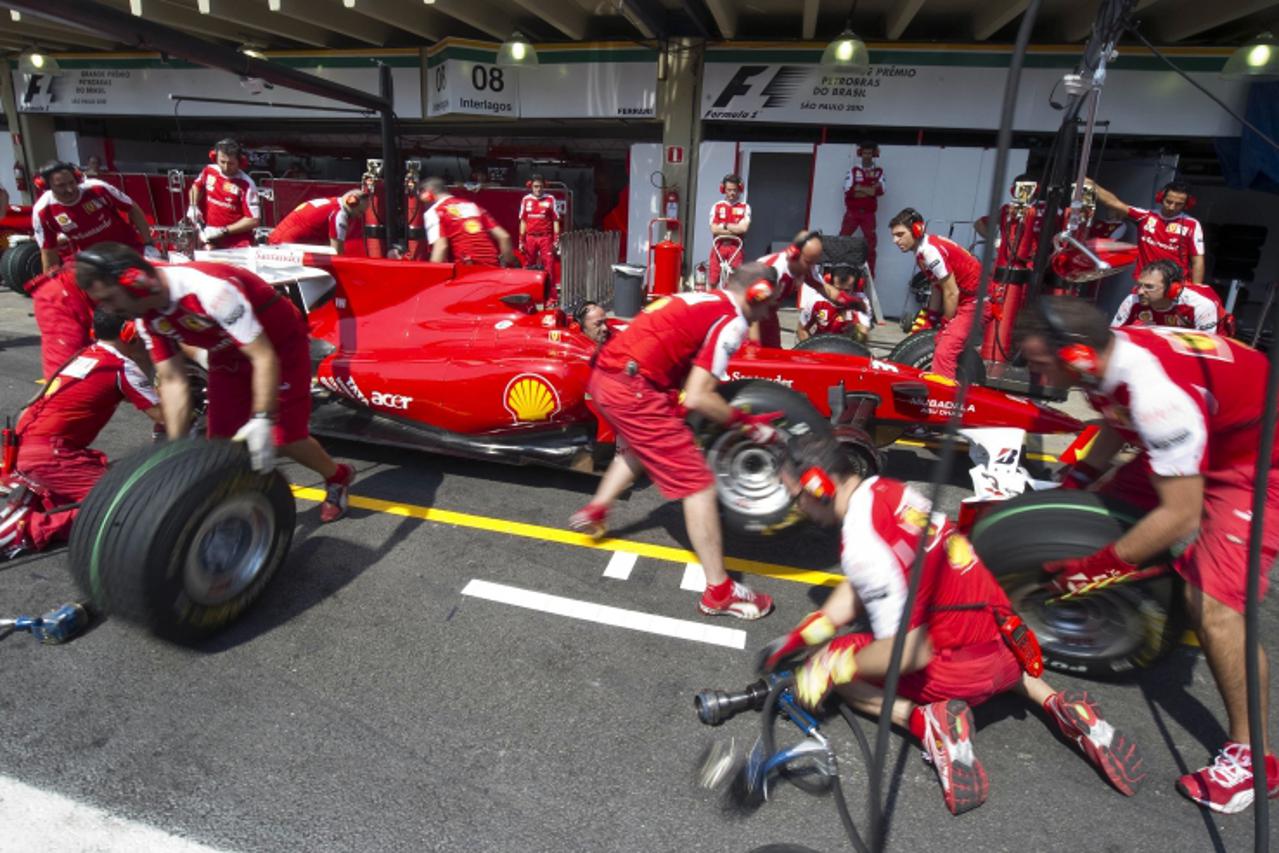
[[[1126,444],[1141,454],[1102,491],[1147,509],[1118,541],[1088,556],[1044,567],[1072,595],[1132,581],[1138,567],[1174,554],[1186,581],[1186,610],[1225,705],[1228,737],[1215,761],[1177,788],[1195,802],[1233,813],[1252,803],[1252,755],[1244,678],[1243,607],[1252,526],[1252,482],[1261,444],[1265,356],[1228,338],[1168,327],[1113,330],[1091,304],[1044,298],[1018,318],[1032,371],[1056,387],[1079,386],[1105,427],[1068,486],[1086,486]],[[1279,462],[1279,451],[1273,463]],[[1279,554],[1279,464],[1270,471],[1261,565]],[[1266,588],[1265,569],[1261,591]],[[1261,660],[1261,729],[1267,739],[1269,674]],[[1279,761],[1266,748],[1270,797],[1279,797]]]

